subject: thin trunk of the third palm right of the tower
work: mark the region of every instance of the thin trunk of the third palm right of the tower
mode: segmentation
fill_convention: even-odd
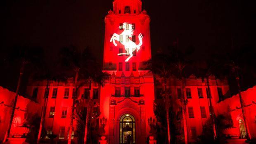
[[[207,76],[206,78],[206,84],[207,84],[207,89],[208,89],[208,95],[211,95],[211,90],[210,90],[210,85],[209,85],[209,76]],[[209,104],[210,104],[210,117],[212,119],[212,123],[213,123],[213,139],[215,140],[217,138],[217,134],[216,134],[216,125],[215,125],[215,113],[213,110],[213,106],[211,104],[211,98],[208,98],[209,100]]]

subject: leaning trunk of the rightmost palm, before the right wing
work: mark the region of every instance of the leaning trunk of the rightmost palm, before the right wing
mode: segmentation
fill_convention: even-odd
[[[240,83],[239,83],[239,77],[236,77],[236,81],[237,81],[237,88],[238,88],[238,94],[239,94],[239,101],[240,101],[240,105],[241,105],[241,109],[242,109],[242,114],[243,114],[243,118],[244,118],[244,125],[245,125],[245,130],[246,130],[246,137],[247,139],[251,139],[251,134],[249,131],[249,126],[247,124],[247,119],[244,113],[244,101],[242,99],[242,95],[241,95],[241,87],[240,87]]]

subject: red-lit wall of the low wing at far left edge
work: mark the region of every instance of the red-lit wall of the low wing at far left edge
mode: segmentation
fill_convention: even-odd
[[[0,87],[0,142],[4,139],[9,125],[14,98],[14,92]],[[25,97],[18,96],[16,110],[14,112],[14,121],[17,122],[17,124],[12,124],[10,137],[21,137],[24,133],[27,134],[29,129],[22,127],[23,124],[26,123],[27,114],[36,114],[38,112],[39,105],[37,103]]]

